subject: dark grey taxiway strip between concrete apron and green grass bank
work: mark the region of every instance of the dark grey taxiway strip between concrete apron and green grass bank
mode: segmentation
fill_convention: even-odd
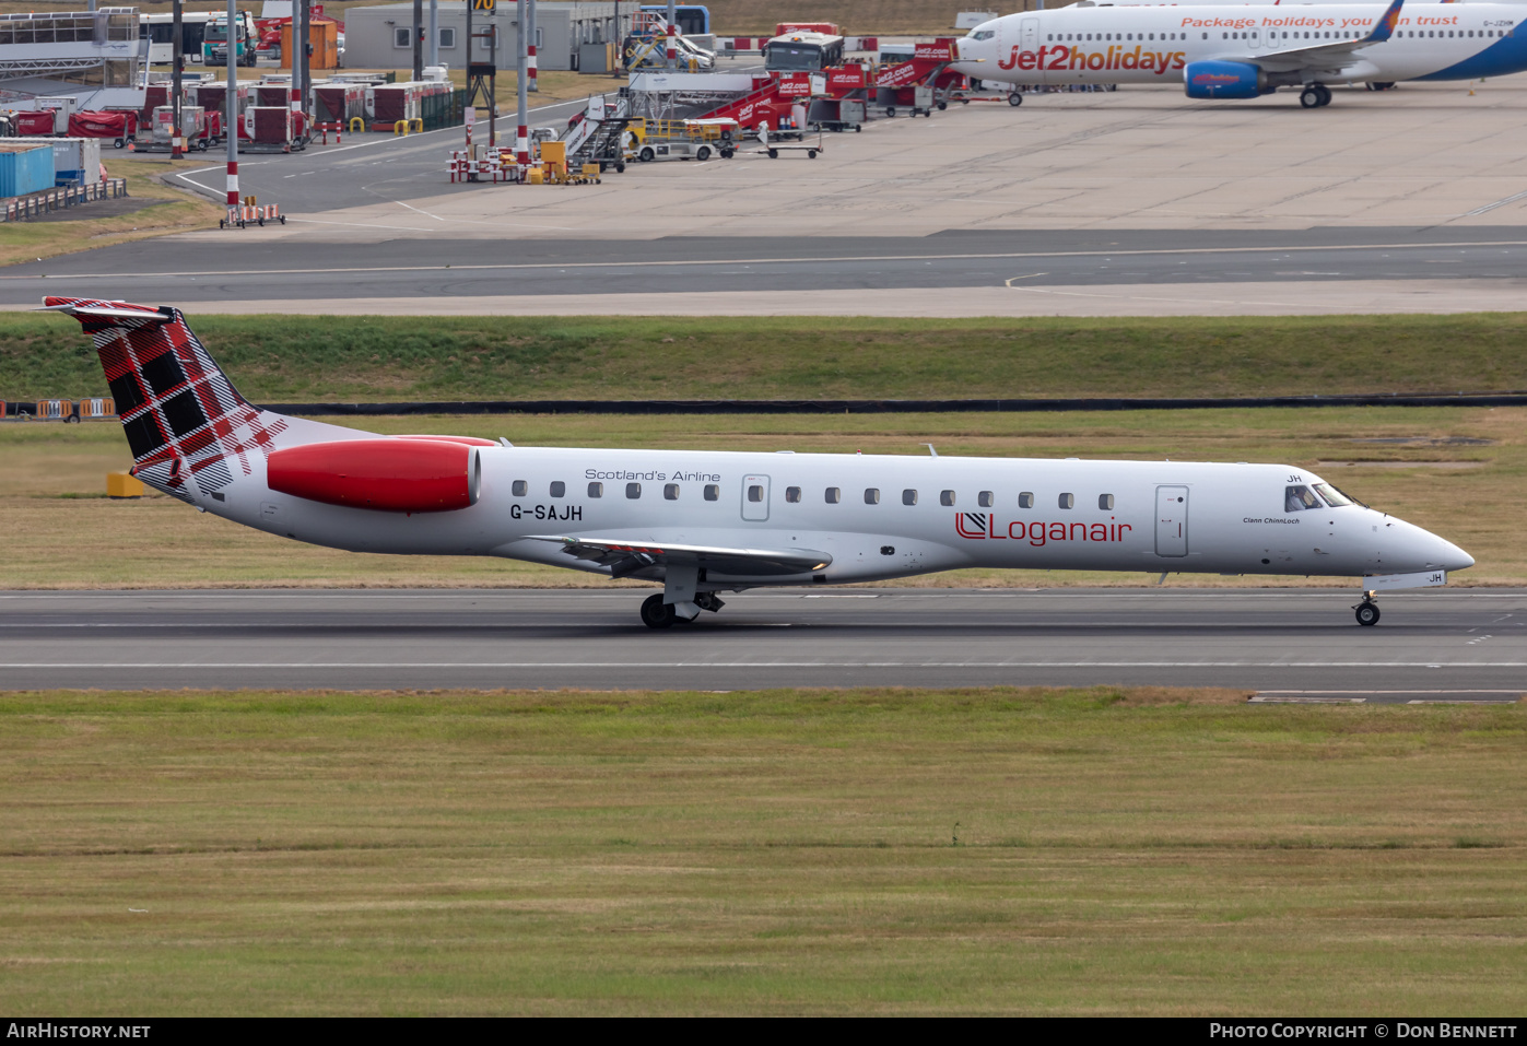
[[[562,299],[599,296],[1044,287],[1162,290],[1226,284],[1512,281],[1527,276],[1527,228],[1306,231],[962,231],[935,237],[673,237],[643,243],[483,240],[379,244],[166,238],[5,269],[0,305],[44,295],[195,308],[229,299]],[[1518,290],[1519,293],[1519,290]],[[852,307],[849,305],[852,313]]]

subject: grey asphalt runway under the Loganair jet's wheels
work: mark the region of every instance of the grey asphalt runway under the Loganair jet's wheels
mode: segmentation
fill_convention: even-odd
[[[0,592],[5,689],[1238,687],[1504,701],[1527,591],[782,589],[652,632],[641,591]]]

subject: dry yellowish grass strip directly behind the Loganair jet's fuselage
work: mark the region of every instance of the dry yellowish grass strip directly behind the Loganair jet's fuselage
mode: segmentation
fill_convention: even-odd
[[[519,446],[866,450],[1277,461],[1455,541],[1457,585],[1527,585],[1527,409],[1142,411],[1098,414],[380,417],[374,432],[455,432]],[[510,560],[342,553],[246,530],[171,498],[107,501],[131,464],[115,423],[0,425],[0,588],[594,585]],[[899,585],[1156,583],[1154,576],[953,571]],[[1322,583],[1183,574],[1168,583]],[[1324,583],[1347,585],[1347,579]]]

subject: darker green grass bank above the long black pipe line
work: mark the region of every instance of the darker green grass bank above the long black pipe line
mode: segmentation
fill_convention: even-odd
[[[255,402],[1255,395],[1527,386],[1527,313],[1173,319],[191,315]],[[0,399],[104,395],[78,324],[0,313]]]

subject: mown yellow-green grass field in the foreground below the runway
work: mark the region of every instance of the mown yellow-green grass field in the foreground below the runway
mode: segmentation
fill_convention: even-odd
[[[1524,719],[12,693],[9,1014],[1519,1015]]]

